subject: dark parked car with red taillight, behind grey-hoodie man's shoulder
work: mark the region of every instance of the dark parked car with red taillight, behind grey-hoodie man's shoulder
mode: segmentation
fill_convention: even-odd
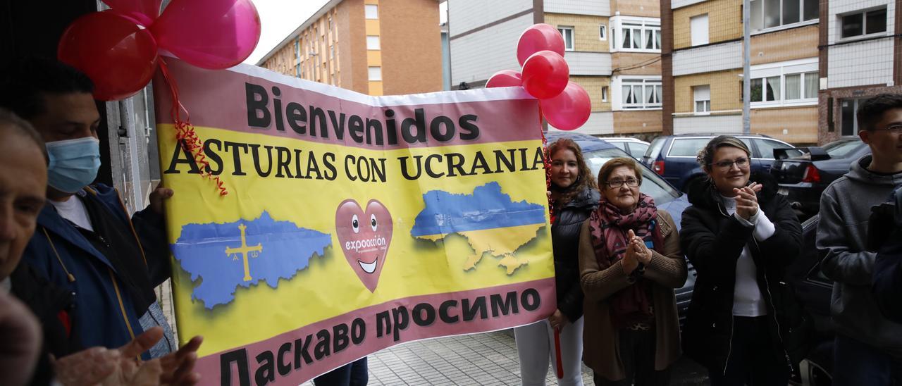
[[[777,178],[779,193],[786,195],[794,208],[811,216],[820,209],[824,188],[849,171],[851,162],[867,154],[870,147],[858,137],[842,138],[824,147],[808,148],[801,156],[774,161],[770,174]]]

